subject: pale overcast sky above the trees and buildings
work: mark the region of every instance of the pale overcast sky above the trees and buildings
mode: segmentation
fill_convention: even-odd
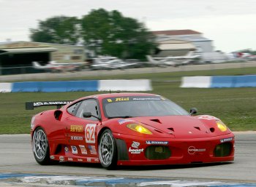
[[[29,41],[39,20],[80,18],[99,8],[116,9],[150,31],[199,31],[223,52],[256,50],[256,0],[0,0],[0,42]]]

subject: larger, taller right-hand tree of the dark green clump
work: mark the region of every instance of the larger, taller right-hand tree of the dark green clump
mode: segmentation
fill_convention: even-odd
[[[93,9],[81,23],[86,47],[97,55],[143,59],[155,47],[154,36],[143,23],[116,10]]]

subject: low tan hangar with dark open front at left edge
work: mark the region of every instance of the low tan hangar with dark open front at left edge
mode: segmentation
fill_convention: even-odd
[[[83,63],[86,60],[84,47],[64,44],[48,44],[31,41],[7,41],[0,43],[1,74],[33,73],[32,62],[45,65],[56,63]],[[30,68],[29,68],[30,67]]]

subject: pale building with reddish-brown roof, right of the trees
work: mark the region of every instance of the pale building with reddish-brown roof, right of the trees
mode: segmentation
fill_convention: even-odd
[[[230,58],[223,52],[214,51],[213,41],[203,33],[192,30],[153,31],[159,44],[155,57],[181,56],[193,51],[200,55],[201,63],[223,63]]]

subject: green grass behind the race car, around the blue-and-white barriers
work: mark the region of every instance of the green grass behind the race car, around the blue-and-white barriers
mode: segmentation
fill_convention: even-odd
[[[222,119],[233,131],[256,130],[256,87],[199,89],[180,88],[181,76],[253,74],[256,68],[173,73],[146,73],[104,76],[104,79],[151,79],[152,93],[163,95],[189,111],[196,107],[198,114],[209,114]],[[79,79],[102,79],[83,77]],[[56,79],[55,79],[56,80]],[[61,79],[63,80],[63,79]],[[74,79],[72,79],[74,80]],[[25,110],[26,101],[75,100],[102,92],[18,92],[0,93],[0,134],[29,133],[31,116],[53,107]]]

